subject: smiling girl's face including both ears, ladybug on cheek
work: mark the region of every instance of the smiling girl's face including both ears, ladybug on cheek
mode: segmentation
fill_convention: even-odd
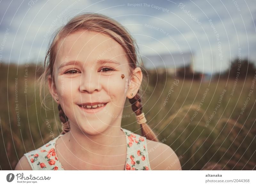
[[[121,45],[98,32],[80,31],[62,39],[57,52],[50,92],[71,126],[90,135],[120,126],[125,99],[137,93],[142,80],[139,67],[137,77],[129,77]]]

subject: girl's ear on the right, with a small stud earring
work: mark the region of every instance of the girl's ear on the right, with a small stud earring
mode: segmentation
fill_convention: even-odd
[[[138,90],[140,89],[141,81],[143,78],[140,67],[135,68],[133,70],[133,73],[135,75],[132,75],[129,81],[129,89],[126,95],[129,99],[133,98],[137,94]],[[133,95],[131,95],[131,93],[133,93]]]

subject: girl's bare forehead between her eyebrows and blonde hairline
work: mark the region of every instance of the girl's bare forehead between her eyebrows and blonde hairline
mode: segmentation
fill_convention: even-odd
[[[57,63],[64,60],[95,62],[112,59],[128,63],[122,46],[113,38],[98,32],[79,31],[60,40],[57,48]],[[57,64],[58,65],[58,64]]]

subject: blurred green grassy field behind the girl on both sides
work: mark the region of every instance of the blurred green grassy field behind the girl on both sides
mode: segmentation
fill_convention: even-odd
[[[52,98],[48,96],[46,99],[51,110],[45,111],[41,107],[39,85],[36,83],[40,74],[36,72],[38,66],[29,64],[27,93],[24,93],[25,69],[25,66],[0,66],[1,170],[14,169],[25,152],[50,141],[51,131],[54,137],[61,132],[57,105]],[[142,86],[146,90],[142,98],[143,112],[159,141],[164,140],[180,157],[182,169],[255,170],[256,90],[252,92],[244,113],[240,114],[251,89],[252,77],[238,80],[233,96],[230,93],[235,80],[227,83],[224,79],[211,82],[179,79],[177,85],[173,85],[173,81],[174,77],[159,76],[156,80],[155,74],[149,74],[148,81]],[[198,109],[207,88],[209,91]],[[206,127],[223,89],[226,92],[220,107]],[[168,92],[171,93],[167,100]],[[130,117],[123,118],[122,127],[140,134],[139,125],[128,105],[127,101],[123,115]],[[193,114],[196,116],[191,121]]]

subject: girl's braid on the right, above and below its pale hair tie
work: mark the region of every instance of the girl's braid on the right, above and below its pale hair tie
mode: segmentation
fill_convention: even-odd
[[[142,113],[142,105],[140,103],[141,99],[139,91],[133,98],[129,99],[129,101],[132,104],[132,111],[135,112],[136,116],[140,115]],[[155,133],[152,131],[152,129],[148,126],[147,123],[140,124],[140,130],[142,136],[145,136],[149,140],[159,142]]]

